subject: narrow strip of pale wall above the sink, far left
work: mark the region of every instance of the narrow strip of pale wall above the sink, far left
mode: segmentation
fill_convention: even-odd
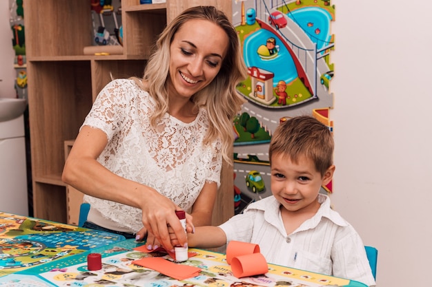
[[[9,1],[0,0],[0,98],[15,98],[15,70]]]

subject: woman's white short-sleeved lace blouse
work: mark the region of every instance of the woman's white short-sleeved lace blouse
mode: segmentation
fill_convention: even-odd
[[[83,126],[105,132],[108,144],[98,158],[104,167],[153,187],[190,210],[205,182],[216,182],[219,187],[222,143],[217,140],[202,145],[208,130],[205,109],[199,109],[192,123],[165,114],[156,128],[150,125],[153,109],[154,100],[148,92],[130,79],[117,79],[99,93]],[[95,224],[119,226],[115,230],[132,233],[142,227],[140,209],[89,195],[84,200],[108,223],[89,218]]]

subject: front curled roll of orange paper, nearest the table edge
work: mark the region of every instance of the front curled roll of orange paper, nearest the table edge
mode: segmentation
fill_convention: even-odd
[[[237,278],[248,277],[268,272],[266,258],[261,253],[252,253],[233,257],[231,270]]]

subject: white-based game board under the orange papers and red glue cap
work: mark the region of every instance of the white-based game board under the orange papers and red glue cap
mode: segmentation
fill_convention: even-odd
[[[286,268],[268,264],[268,272],[251,277],[234,277],[226,256],[199,249],[190,249],[195,253],[186,262],[173,264],[169,270],[159,272],[135,264],[146,257],[164,257],[169,255],[143,253],[133,248],[128,240],[97,248],[101,254],[101,268],[89,270],[86,254],[75,255],[69,259],[36,266],[26,273],[15,273],[0,277],[0,286],[8,287],[97,287],[97,286],[145,286],[145,287],[323,287],[350,286],[351,281],[328,275],[320,275],[304,270]],[[92,251],[94,252],[94,251]],[[165,273],[179,273],[187,266],[197,268],[199,274],[175,279]]]

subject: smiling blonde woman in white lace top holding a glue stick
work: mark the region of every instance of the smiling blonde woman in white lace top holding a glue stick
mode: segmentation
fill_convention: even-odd
[[[189,8],[168,24],[142,79],[112,81],[95,100],[63,169],[86,193],[84,226],[173,250],[188,224],[211,223],[222,158],[230,162],[232,120],[246,77],[237,32],[213,6]]]

